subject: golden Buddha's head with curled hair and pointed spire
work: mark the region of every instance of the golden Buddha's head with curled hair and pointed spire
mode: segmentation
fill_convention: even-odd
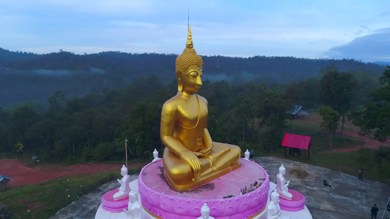
[[[177,90],[194,94],[202,86],[203,59],[193,49],[191,26],[188,27],[186,48],[176,58]]]

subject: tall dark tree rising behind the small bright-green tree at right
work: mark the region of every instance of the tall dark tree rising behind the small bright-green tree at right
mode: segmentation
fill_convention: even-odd
[[[335,68],[329,68],[323,72],[319,86],[319,101],[325,106],[332,107],[341,116],[342,134],[346,115],[352,109],[355,100],[355,78],[348,72],[339,72]]]

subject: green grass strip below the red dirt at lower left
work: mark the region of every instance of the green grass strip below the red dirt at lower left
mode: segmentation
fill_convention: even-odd
[[[129,168],[129,174],[139,173],[139,168]],[[118,171],[96,175],[73,175],[47,183],[31,185],[0,193],[1,202],[7,206],[12,218],[49,218],[58,210],[83,194],[120,177]]]

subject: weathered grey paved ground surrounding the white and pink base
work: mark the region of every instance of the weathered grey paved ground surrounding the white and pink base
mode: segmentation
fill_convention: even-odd
[[[339,171],[332,171],[277,157],[255,157],[253,160],[260,164],[269,174],[271,190],[274,189],[272,182],[276,182],[278,168],[280,164],[284,164],[287,168],[287,177],[291,180],[291,189],[305,195],[306,206],[313,218],[316,219],[366,219],[367,209],[361,206],[371,206],[372,203],[386,206],[390,196],[390,187],[388,185],[371,180],[362,182],[357,180],[356,176],[347,175]],[[296,170],[303,171],[307,175],[304,175],[304,177],[302,177],[302,174],[296,175],[294,173]],[[137,189],[138,177],[139,173],[130,175],[131,181],[136,180],[135,184],[131,186],[135,189]],[[332,187],[324,189],[322,184],[324,179],[328,180]],[[98,218],[99,216],[96,214],[98,209],[99,214],[104,212],[101,208],[101,197],[106,192],[118,187],[117,180],[101,185],[96,191],[84,194],[78,200],[62,208],[50,219],[94,219],[95,216]],[[360,192],[356,193],[356,190]],[[365,198],[362,198],[362,194],[364,194]],[[308,210],[305,208],[299,212],[284,212],[282,214],[289,214],[290,219],[301,219],[305,218],[302,216],[305,215],[303,212],[310,215]],[[121,213],[112,214],[112,218],[114,218],[114,215]],[[383,209],[379,209],[378,215],[382,214]],[[103,217],[99,218],[108,219],[110,216],[104,217],[103,215]]]

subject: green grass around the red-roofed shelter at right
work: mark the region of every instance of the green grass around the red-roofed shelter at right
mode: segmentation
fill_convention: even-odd
[[[322,131],[319,124],[291,122],[291,129],[286,133],[311,136],[310,160],[305,163],[321,166],[330,170],[340,171],[350,175],[358,175],[359,168],[363,168],[363,177],[390,185],[390,159],[378,158],[378,150],[361,149],[353,152],[325,152],[329,151],[329,133]],[[333,136],[333,148],[356,147],[363,145],[363,141],[350,136]],[[255,151],[255,157],[274,156],[285,159],[284,147],[280,147],[272,154],[264,151]],[[389,155],[390,156],[390,155]],[[304,162],[303,152],[298,156],[287,155],[288,160]]]

